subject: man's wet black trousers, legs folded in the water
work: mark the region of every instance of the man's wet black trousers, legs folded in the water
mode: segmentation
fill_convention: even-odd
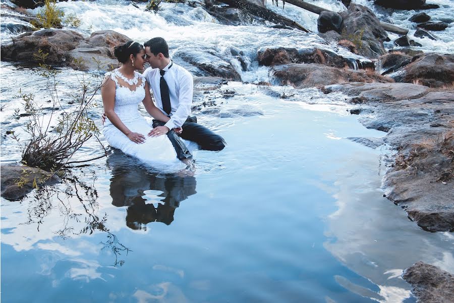
[[[162,121],[153,120],[153,128],[164,124]],[[177,157],[180,160],[192,158],[188,147],[186,147],[186,144],[181,138],[194,141],[200,145],[201,149],[205,150],[222,150],[226,145],[221,136],[215,134],[205,126],[198,124],[196,117],[188,117],[182,127],[183,132],[180,136],[172,129],[167,133],[167,137],[174,145],[177,151]]]

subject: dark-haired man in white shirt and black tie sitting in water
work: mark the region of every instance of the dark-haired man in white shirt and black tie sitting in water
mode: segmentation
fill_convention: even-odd
[[[181,138],[198,143],[202,149],[222,150],[226,144],[224,139],[197,124],[196,117],[189,117],[194,88],[192,75],[169,58],[168,45],[163,38],[152,38],[145,42],[144,47],[146,61],[151,67],[145,70],[143,76],[150,84],[157,108],[171,118],[166,123],[153,120],[153,129],[148,135],[167,134],[180,160],[192,157]],[[171,131],[179,127],[183,128],[181,138]]]

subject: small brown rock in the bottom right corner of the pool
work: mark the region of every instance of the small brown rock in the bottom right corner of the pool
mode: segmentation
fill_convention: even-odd
[[[454,275],[436,266],[415,263],[404,271],[402,278],[413,286],[418,302],[454,302]]]

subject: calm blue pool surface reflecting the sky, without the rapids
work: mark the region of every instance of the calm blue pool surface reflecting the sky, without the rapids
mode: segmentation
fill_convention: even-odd
[[[450,234],[422,231],[381,197],[380,149],[346,138],[384,133],[348,114],[344,95],[235,82],[222,89],[237,94],[199,118],[229,145],[196,151],[192,170],[158,173],[119,153],[82,169],[87,182],[95,176],[94,214],[132,250],[119,256],[122,267],[101,249],[105,232],[58,236],[65,222],[84,226],[62,217],[62,205],[37,231],[24,224],[32,198],[2,199],[3,295],[35,297],[17,282],[26,277],[54,300],[391,302],[409,296],[399,276],[412,263],[452,269]],[[269,89],[295,94],[279,99]],[[84,214],[77,200],[71,206]]]

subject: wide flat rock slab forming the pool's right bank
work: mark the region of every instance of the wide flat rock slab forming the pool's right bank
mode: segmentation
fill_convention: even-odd
[[[348,83],[325,90],[352,96],[361,108],[359,121],[387,132],[384,143],[398,150],[383,178],[386,197],[423,229],[453,231],[454,90],[411,83]]]

